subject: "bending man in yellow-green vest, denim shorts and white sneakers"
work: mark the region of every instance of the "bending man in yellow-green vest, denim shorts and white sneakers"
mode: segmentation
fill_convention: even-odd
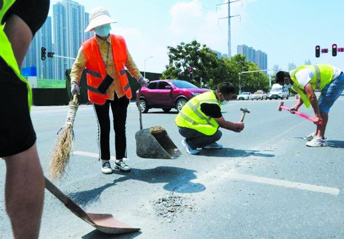
[[[329,145],[325,138],[325,129],[330,108],[344,90],[342,70],[332,65],[301,65],[290,73],[278,72],[276,83],[291,88],[300,95],[298,103],[290,109],[291,113],[297,111],[302,104],[307,108],[312,105],[315,113],[314,123],[323,121],[322,125],[317,125],[315,132],[304,137],[309,141],[306,145],[311,147]],[[321,91],[319,101],[314,94],[315,89]]]

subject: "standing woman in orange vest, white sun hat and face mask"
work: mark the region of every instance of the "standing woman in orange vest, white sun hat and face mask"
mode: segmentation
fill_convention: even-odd
[[[127,67],[139,84],[148,85],[128,52],[122,36],[109,34],[110,18],[105,8],[95,8],[89,14],[89,25],[85,32],[94,31],[95,36],[82,43],[72,66],[72,95],[79,93],[79,80],[83,69],[87,73],[88,99],[93,103],[98,122],[98,148],[101,172],[112,173],[110,160],[110,118],[111,106],[114,117],[116,161],[115,170],[130,171],[123,161],[127,158],[126,119],[131,89],[126,75]]]

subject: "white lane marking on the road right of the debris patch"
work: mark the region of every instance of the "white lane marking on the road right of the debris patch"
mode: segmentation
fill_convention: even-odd
[[[302,189],[302,190],[307,190],[307,191],[312,191],[312,192],[327,193],[327,194],[336,195],[336,196],[339,194],[339,188],[324,187],[324,186],[305,184],[305,183],[295,183],[295,182],[290,182],[290,181],[277,180],[277,179],[272,179],[272,178],[267,178],[267,177],[258,177],[258,176],[240,174],[240,173],[225,173],[222,177],[229,177],[229,178],[234,178],[237,180],[244,180],[244,181],[255,182],[255,183],[264,183],[264,184],[270,184],[270,185],[281,186],[281,187],[297,188],[297,189]]]

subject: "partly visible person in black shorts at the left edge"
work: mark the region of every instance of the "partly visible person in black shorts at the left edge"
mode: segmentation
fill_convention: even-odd
[[[39,236],[44,177],[30,118],[31,88],[20,67],[49,5],[49,0],[0,0],[0,158],[6,162],[5,204],[13,231],[6,238]]]

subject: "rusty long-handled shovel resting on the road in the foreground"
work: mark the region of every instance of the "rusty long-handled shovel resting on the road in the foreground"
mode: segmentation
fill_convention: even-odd
[[[83,219],[97,230],[109,234],[121,234],[139,231],[140,228],[132,228],[120,221],[115,220],[111,214],[86,213],[81,207],[64,195],[54,184],[45,177],[45,188],[48,189],[58,200],[60,200],[77,217]]]

